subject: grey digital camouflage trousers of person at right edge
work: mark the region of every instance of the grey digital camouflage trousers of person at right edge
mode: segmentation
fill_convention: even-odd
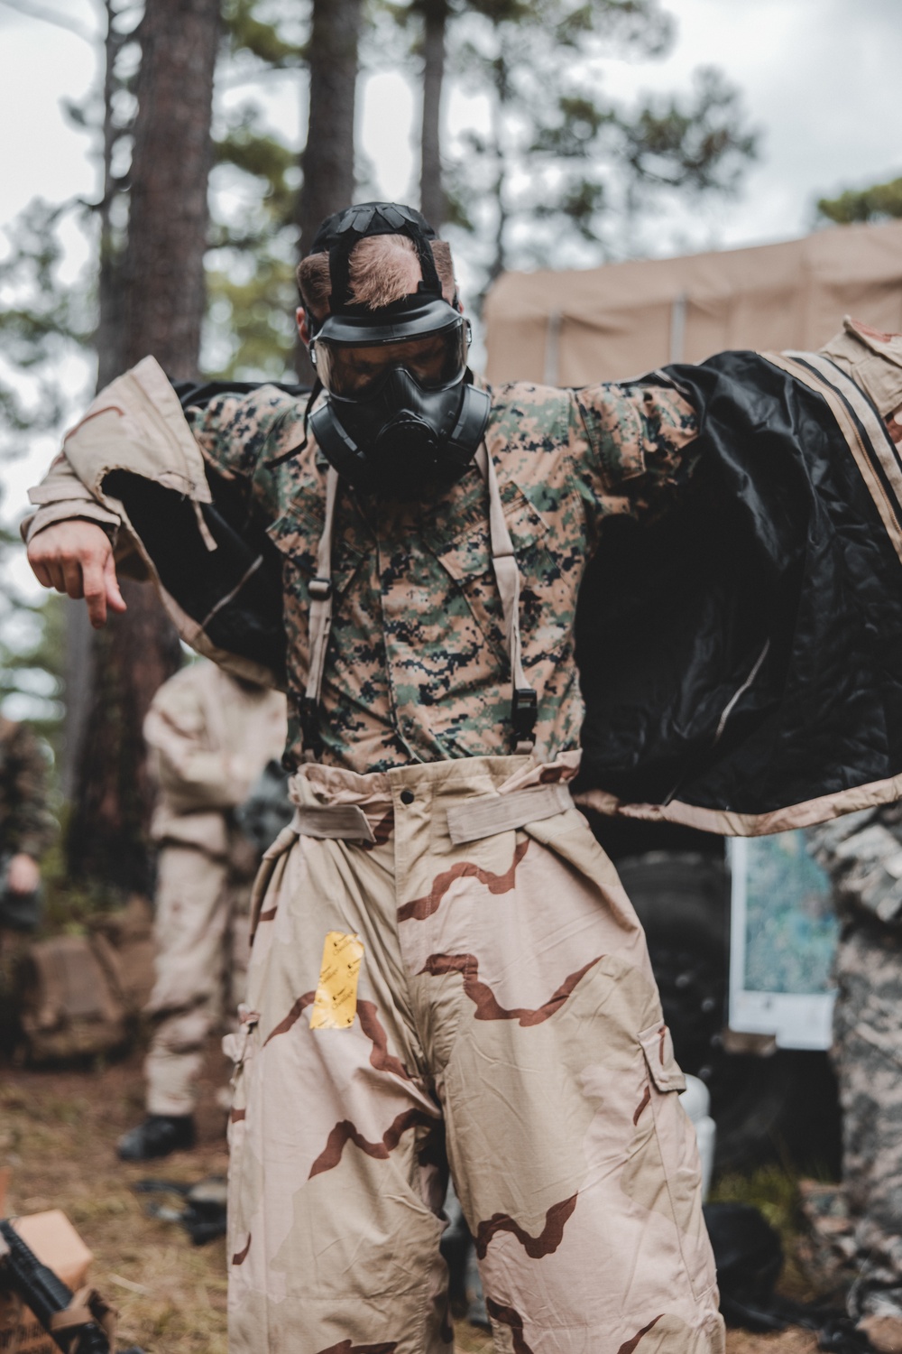
[[[902,1317],[902,926],[844,918],[833,1059],[859,1274],[852,1316]]]

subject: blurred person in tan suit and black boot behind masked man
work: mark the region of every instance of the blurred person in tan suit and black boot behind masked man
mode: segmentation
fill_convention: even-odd
[[[285,697],[201,661],[176,673],[145,720],[160,783],[160,844],[147,1014],[147,1117],[119,1140],[123,1160],[195,1141],[195,1082],[204,1040],[243,998],[247,909],[260,853],[235,823],[264,766],[285,743]]]

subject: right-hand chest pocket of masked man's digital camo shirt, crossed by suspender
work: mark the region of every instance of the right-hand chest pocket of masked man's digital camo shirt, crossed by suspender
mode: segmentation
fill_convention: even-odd
[[[525,655],[549,654],[567,642],[572,628],[573,600],[560,563],[549,548],[548,524],[537,508],[513,483],[502,489],[504,521],[521,575],[519,623]],[[437,556],[467,598],[485,640],[500,654],[504,615],[492,569],[488,520],[456,536]]]

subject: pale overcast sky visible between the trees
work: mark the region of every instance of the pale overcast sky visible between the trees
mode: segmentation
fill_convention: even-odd
[[[96,28],[92,0],[28,0]],[[289,0],[284,0],[288,5]],[[291,0],[293,4],[293,0]],[[902,0],[669,0],[678,41],[665,61],[604,66],[609,92],[687,88],[699,65],[717,65],[740,87],[760,160],[742,194],[703,213],[661,222],[655,252],[717,248],[803,234],[817,196],[902,175]],[[0,0],[0,225],[34,196],[58,202],[95,190],[84,134],[68,126],[62,99],[81,99],[96,77],[96,54],[73,32],[23,18]],[[299,135],[302,99],[293,76],[269,83],[270,118]],[[247,95],[247,88],[230,97]],[[360,139],[387,198],[412,192],[415,100],[396,74],[361,89]],[[452,100],[454,125],[473,115]],[[84,259],[70,237],[73,267]],[[4,515],[19,515],[34,467],[50,445],[28,448],[4,467]]]

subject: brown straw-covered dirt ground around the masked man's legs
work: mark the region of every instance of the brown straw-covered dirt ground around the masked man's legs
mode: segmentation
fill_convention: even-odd
[[[95,1254],[91,1281],[119,1309],[120,1345],[147,1354],[224,1354],[226,1255],[222,1240],[195,1247],[174,1224],[147,1217],[130,1186],[149,1175],[193,1182],[227,1167],[216,1087],[226,1075],[211,1048],[201,1085],[199,1145],[160,1163],[116,1160],[116,1137],[142,1116],[141,1057],[85,1071],[0,1066],[0,1166],[11,1167],[7,1212],[61,1208]],[[814,1336],[729,1331],[728,1354],[813,1354]],[[491,1350],[483,1331],[457,1323],[456,1350]]]

